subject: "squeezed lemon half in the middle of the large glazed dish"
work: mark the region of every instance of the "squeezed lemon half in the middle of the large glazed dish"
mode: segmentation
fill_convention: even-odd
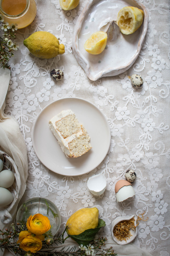
[[[84,44],[84,48],[91,54],[100,54],[106,47],[107,33],[98,31],[93,33]]]

